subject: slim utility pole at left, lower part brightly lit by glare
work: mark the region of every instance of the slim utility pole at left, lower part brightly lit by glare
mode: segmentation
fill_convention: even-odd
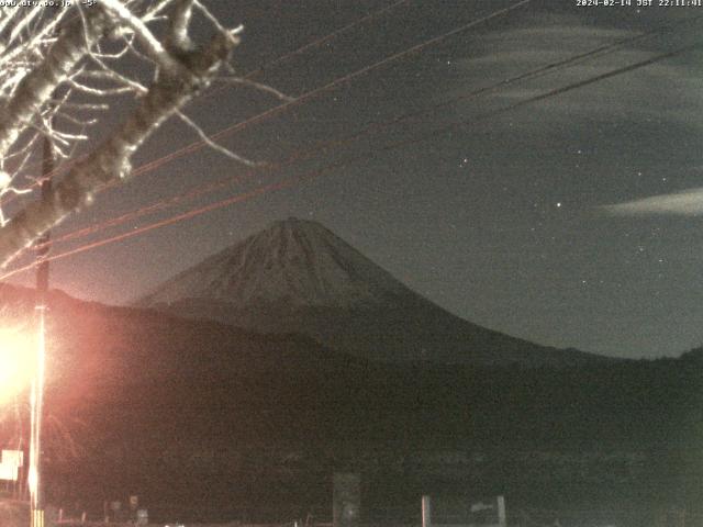
[[[54,170],[54,153],[51,141],[44,138],[42,152],[41,199],[52,191],[51,175]],[[51,231],[36,243],[36,356],[32,379],[31,437],[30,437],[30,508],[31,527],[44,527],[44,482],[42,481],[42,418],[44,414],[44,375],[46,367],[46,293],[48,291],[48,251]]]

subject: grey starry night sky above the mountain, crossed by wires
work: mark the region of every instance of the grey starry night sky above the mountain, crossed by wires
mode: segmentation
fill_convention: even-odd
[[[227,25],[245,24],[235,53],[237,71],[245,74],[395,0],[207,3]],[[271,64],[256,80],[297,97],[514,3],[412,0]],[[696,44],[703,7],[636,3],[532,1],[221,139],[252,159],[276,162],[321,141],[415,113],[312,159],[252,173],[200,149],[140,175],[101,194],[96,206],[56,235],[223,177],[242,178],[55,251],[341,165],[317,178],[56,260],[52,287],[81,299],[126,303],[269,223],[298,216],[321,222],[448,311],[510,335],[633,358],[696,347],[703,344],[703,53],[688,51],[498,112]],[[647,32],[652,34],[633,40]],[[470,96],[628,40],[569,68]],[[216,133],[281,103],[250,88],[222,86],[188,113]],[[460,121],[466,125],[433,133]],[[135,166],[193,141],[183,125],[169,123]]]

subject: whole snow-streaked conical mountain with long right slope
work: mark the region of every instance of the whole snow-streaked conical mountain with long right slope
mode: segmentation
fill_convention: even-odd
[[[571,367],[609,360],[511,337],[459,318],[312,221],[274,223],[135,305],[259,333],[299,333],[382,361]]]

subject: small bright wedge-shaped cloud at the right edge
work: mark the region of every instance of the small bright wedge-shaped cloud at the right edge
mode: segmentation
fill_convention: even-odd
[[[602,205],[603,212],[613,215],[639,216],[652,214],[677,214],[696,216],[703,214],[703,187],[672,194],[652,195],[640,200]]]

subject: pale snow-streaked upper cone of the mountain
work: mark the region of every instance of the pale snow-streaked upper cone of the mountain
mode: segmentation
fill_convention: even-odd
[[[200,299],[238,309],[349,307],[402,294],[404,285],[325,227],[290,217],[181,272],[140,304]]]

